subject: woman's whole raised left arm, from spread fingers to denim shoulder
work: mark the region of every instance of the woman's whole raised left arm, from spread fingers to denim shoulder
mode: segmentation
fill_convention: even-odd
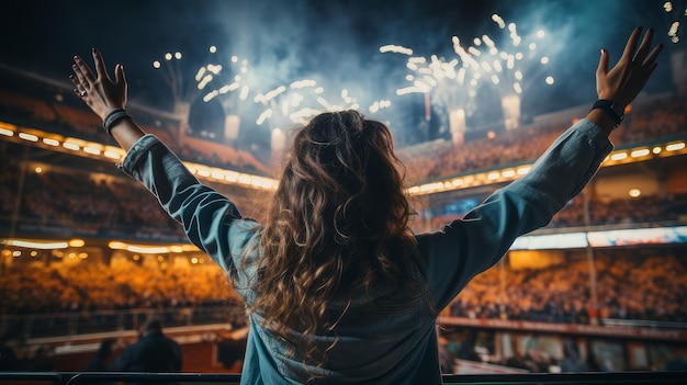
[[[181,160],[154,135],[145,135],[126,114],[126,80],[121,64],[114,67],[114,81],[93,49],[95,72],[75,56],[69,78],[74,92],[103,120],[104,128],[126,150],[122,171],[139,181],[165,211],[183,225],[189,240],[225,271],[232,271],[255,222],[244,220],[234,202],[203,185]]]

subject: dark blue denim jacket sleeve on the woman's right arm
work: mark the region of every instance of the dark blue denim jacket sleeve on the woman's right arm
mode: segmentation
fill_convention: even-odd
[[[561,135],[521,179],[497,190],[463,219],[419,235],[433,305],[444,308],[491,268],[517,237],[548,225],[577,195],[611,151],[602,131],[582,120]]]

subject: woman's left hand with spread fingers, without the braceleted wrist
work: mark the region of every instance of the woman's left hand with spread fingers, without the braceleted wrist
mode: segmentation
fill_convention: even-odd
[[[124,77],[124,67],[117,64],[114,66],[115,81],[112,81],[105,69],[102,55],[95,48],[93,48],[93,61],[95,63],[95,73],[81,57],[75,56],[71,65],[74,75],[70,75],[69,79],[75,86],[76,95],[100,118],[104,120],[110,111],[125,107],[126,78]]]

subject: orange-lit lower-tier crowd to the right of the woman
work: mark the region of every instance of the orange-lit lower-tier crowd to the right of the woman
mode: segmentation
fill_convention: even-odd
[[[495,267],[468,285],[450,315],[567,324],[604,318],[687,322],[687,267],[677,256],[597,251],[594,261],[596,306],[589,262],[578,258],[541,269]]]

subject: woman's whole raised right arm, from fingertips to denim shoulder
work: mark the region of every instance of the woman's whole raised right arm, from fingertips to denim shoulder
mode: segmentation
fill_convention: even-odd
[[[597,95],[620,114],[642,90],[656,67],[661,46],[651,48],[649,30],[635,29],[618,64],[601,50],[596,72]],[[619,124],[615,111],[593,109],[561,135],[522,178],[497,190],[485,202],[441,231],[418,236],[436,308],[443,308],[477,273],[494,265],[517,237],[545,226],[592,180],[611,151],[608,134]]]

